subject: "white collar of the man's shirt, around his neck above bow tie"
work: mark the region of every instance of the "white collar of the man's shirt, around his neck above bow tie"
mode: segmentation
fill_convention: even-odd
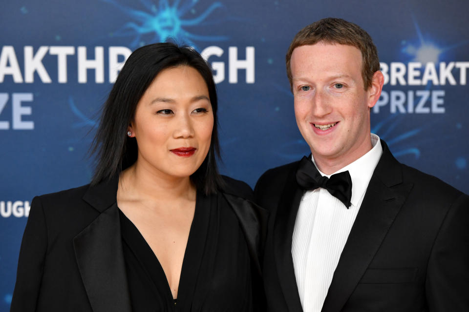
[[[373,175],[376,165],[378,164],[378,161],[380,160],[381,155],[383,154],[383,147],[381,146],[380,137],[373,133],[371,134],[371,144],[373,145],[373,147],[365,155],[333,173],[337,174],[348,170],[350,177],[352,178],[352,198],[350,202],[355,207],[358,206],[363,195],[365,194],[371,176]],[[311,156],[311,158],[313,160],[314,165],[316,166],[314,157]],[[322,173],[319,169],[318,171],[321,176],[330,177],[333,175],[326,175]]]

